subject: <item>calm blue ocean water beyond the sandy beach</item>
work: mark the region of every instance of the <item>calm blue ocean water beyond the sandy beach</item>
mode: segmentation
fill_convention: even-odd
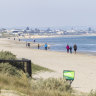
[[[33,42],[34,39],[23,39],[23,41]],[[96,36],[72,36],[72,37],[53,37],[53,38],[36,38],[36,43],[47,43],[50,45],[51,51],[66,52],[66,45],[77,45],[78,52],[93,52],[96,53]],[[41,47],[40,49],[44,49]]]

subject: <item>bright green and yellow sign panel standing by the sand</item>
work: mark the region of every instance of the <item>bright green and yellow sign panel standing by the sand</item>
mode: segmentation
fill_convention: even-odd
[[[74,80],[75,72],[71,70],[64,70],[63,71],[63,77],[66,80]]]

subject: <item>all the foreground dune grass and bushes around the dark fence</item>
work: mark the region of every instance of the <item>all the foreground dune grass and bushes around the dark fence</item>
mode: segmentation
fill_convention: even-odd
[[[11,52],[1,51],[0,59],[17,58]],[[33,73],[41,70],[48,71],[49,69],[32,64]],[[71,86],[64,79],[34,80],[29,78],[20,68],[18,69],[15,64],[10,63],[0,63],[0,89],[17,91],[19,92],[18,96],[24,94],[28,96],[84,96],[75,95]],[[96,92],[91,92],[88,96],[96,96]]]

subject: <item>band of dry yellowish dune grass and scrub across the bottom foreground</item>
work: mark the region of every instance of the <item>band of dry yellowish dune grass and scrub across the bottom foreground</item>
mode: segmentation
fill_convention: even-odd
[[[0,73],[0,88],[15,90],[28,96],[74,96],[72,88],[63,79],[31,80],[22,76],[7,76]]]

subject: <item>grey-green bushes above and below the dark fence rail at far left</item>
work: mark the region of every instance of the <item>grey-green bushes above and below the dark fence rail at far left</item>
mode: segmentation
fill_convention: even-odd
[[[9,51],[1,51],[0,52],[0,59],[1,60],[16,60],[16,55]],[[13,75],[13,76],[20,76],[20,73],[17,68],[16,63],[0,63],[0,73],[6,74],[8,76]]]

